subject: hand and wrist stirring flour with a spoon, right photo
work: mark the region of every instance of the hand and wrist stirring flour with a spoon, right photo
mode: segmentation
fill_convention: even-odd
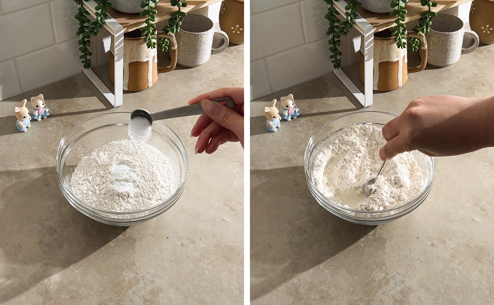
[[[382,128],[388,143],[382,160],[418,150],[430,156],[457,155],[494,145],[494,97],[449,95],[413,100]]]

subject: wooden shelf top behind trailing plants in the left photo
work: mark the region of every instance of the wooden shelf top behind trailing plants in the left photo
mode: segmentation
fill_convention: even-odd
[[[198,8],[206,7],[214,3],[221,2],[222,0],[187,0],[187,6],[181,8],[180,10],[183,12],[190,12],[191,10],[195,10]],[[158,11],[156,14],[156,21],[164,21],[170,18],[170,14],[178,10],[176,6],[171,6],[169,0],[160,0],[158,4],[156,4],[155,9]],[[124,27],[124,32],[130,32],[135,29],[139,29],[145,25],[144,21],[145,17],[141,17],[139,13],[137,14],[126,14],[115,10],[112,7],[108,8],[108,14],[115,18],[118,23],[120,23]],[[219,12],[218,12],[219,14]],[[159,29],[161,30],[161,29]]]

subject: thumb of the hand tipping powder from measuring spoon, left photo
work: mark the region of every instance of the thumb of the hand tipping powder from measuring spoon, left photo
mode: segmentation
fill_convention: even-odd
[[[206,114],[216,123],[233,131],[238,137],[244,135],[244,117],[225,105],[203,100],[201,102]]]

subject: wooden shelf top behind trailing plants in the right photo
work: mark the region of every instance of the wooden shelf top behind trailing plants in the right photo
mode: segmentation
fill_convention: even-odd
[[[442,10],[458,6],[463,3],[471,2],[471,0],[437,0],[437,6],[432,7],[434,12],[440,12]],[[420,5],[420,0],[410,0],[405,6],[407,9],[406,23],[417,20],[420,18],[420,14],[427,10],[427,7]],[[374,28],[374,32],[379,32],[385,29],[389,29],[395,24],[396,16],[390,16],[389,13],[378,14],[371,13],[368,10],[359,7],[359,15],[367,20]]]

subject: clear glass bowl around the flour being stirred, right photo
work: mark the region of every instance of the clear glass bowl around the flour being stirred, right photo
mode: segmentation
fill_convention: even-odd
[[[424,178],[425,187],[415,198],[410,198],[410,200],[403,205],[393,209],[371,212],[345,208],[321,194],[314,183],[312,169],[314,168],[317,156],[322,149],[332,141],[334,136],[343,129],[343,127],[357,123],[372,124],[382,128],[382,126],[396,116],[397,115],[395,114],[388,114],[380,111],[364,111],[345,114],[329,121],[310,138],[304,155],[305,178],[307,179],[309,190],[316,201],[329,212],[355,224],[380,225],[407,215],[427,198],[432,189],[432,183],[434,182],[434,177],[436,175],[436,158],[418,151],[413,151],[412,153],[417,160],[417,165],[420,167],[420,173]]]

